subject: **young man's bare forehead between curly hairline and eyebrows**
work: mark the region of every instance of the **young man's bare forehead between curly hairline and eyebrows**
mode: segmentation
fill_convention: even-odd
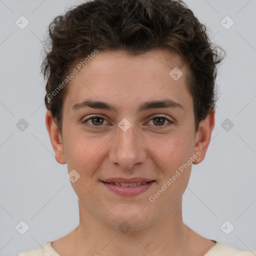
[[[79,61],[74,66],[77,63]],[[173,79],[173,72],[180,77]],[[66,99],[69,107],[88,95],[95,99],[111,96],[122,103],[125,97],[149,100],[154,95],[162,97],[170,92],[181,100],[188,94],[187,74],[180,56],[168,50],[154,49],[137,55],[123,50],[103,50],[90,58],[71,79]]]

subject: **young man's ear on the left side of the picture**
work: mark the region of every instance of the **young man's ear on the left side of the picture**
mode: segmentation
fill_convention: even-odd
[[[58,163],[64,164],[66,163],[66,158],[62,138],[50,111],[46,112],[45,123],[49,133],[51,145],[55,152],[55,159]]]

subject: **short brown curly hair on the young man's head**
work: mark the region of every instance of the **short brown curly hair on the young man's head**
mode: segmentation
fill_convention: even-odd
[[[41,65],[46,80],[44,102],[61,134],[67,86],[56,88],[73,64],[95,49],[123,49],[130,54],[155,48],[177,52],[189,69],[186,83],[196,131],[215,108],[217,65],[225,51],[212,44],[205,25],[182,0],[89,0],[56,16],[48,32]]]

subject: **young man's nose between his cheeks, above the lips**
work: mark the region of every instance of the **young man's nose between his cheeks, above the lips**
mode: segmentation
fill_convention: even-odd
[[[116,135],[111,140],[109,160],[123,169],[134,168],[134,165],[141,164],[146,159],[146,145],[143,142],[135,125],[131,125],[126,131],[118,126]]]

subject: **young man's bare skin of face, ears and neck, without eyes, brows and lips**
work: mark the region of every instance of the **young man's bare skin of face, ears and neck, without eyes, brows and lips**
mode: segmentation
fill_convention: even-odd
[[[47,111],[46,127],[57,162],[67,163],[68,172],[75,169],[80,175],[71,182],[78,197],[79,225],[51,243],[60,255],[198,256],[214,245],[182,221],[182,194],[191,164],[154,202],[148,199],[189,157],[200,152],[193,164],[204,159],[214,127],[212,111],[195,131],[192,97],[185,84],[188,69],[180,63],[177,54],[165,49],[139,55],[99,51],[68,85],[62,136]],[[178,80],[169,75],[175,66],[183,73]],[[72,109],[85,98],[114,104],[118,111]],[[178,102],[183,109],[137,112],[140,103],[165,98]],[[82,123],[93,114],[104,118],[87,121],[97,129]],[[153,114],[173,123],[168,125],[165,119],[157,125]],[[126,131],[118,127],[123,118],[131,123]],[[155,182],[143,193],[125,197],[100,181],[110,177],[145,177]],[[118,228],[123,221],[131,226],[125,234]]]

